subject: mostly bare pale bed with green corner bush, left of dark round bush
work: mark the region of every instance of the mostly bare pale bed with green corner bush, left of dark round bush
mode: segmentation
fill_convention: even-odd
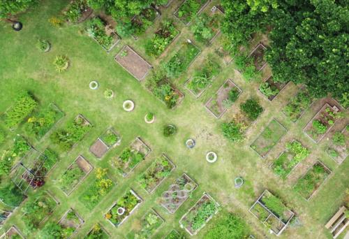
[[[241,93],[242,89],[235,85],[232,80],[228,79],[218,89],[216,94],[207,101],[205,107],[214,117],[220,118],[232,106],[232,103],[237,100]]]

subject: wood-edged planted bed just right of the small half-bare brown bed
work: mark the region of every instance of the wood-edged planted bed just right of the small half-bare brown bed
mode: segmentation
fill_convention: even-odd
[[[117,159],[114,159],[114,166],[124,177],[127,177],[133,169],[143,161],[151,149],[139,138],[135,138],[130,146],[126,147]]]

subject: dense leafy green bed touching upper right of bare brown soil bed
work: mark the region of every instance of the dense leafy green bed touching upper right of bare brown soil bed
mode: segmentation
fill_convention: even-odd
[[[172,20],[164,20],[153,36],[145,43],[145,53],[149,56],[158,57],[172,43],[179,31]]]

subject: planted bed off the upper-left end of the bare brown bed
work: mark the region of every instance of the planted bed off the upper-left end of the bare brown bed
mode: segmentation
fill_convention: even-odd
[[[111,25],[104,22],[100,17],[89,20],[86,31],[107,52],[110,52],[120,41]]]

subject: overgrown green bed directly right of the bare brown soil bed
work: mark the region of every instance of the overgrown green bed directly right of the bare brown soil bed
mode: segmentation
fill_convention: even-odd
[[[163,63],[163,70],[169,78],[177,78],[186,71],[199,53],[200,49],[191,41],[181,42],[181,48],[169,61]]]

